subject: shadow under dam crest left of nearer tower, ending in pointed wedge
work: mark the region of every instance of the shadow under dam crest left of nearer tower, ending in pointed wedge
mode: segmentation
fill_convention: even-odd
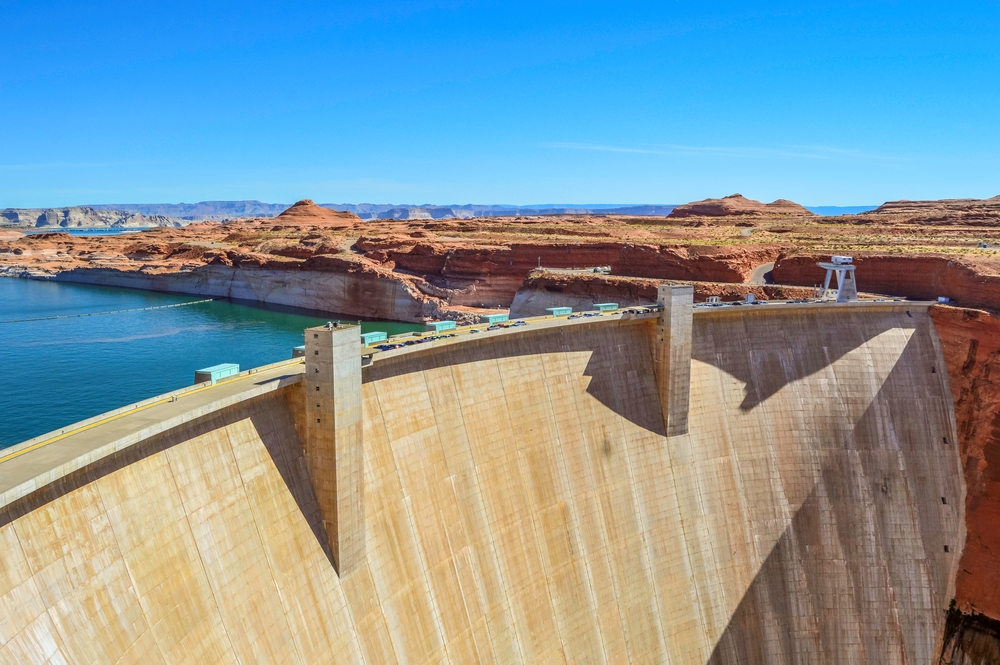
[[[280,400],[284,409],[284,412],[279,417],[287,419],[279,427],[275,427],[272,421],[257,413],[257,409],[255,408],[261,401],[276,398]],[[269,410],[269,413],[273,415],[274,411]],[[278,473],[281,474],[282,479],[285,481],[289,493],[295,499],[299,510],[309,524],[310,530],[316,536],[316,541],[323,549],[332,566],[333,553],[330,551],[329,540],[327,539],[319,510],[319,503],[316,500],[312,483],[309,480],[303,448],[298,440],[298,435],[295,433],[291,411],[288,410],[284,397],[280,393],[278,395],[264,395],[241,402],[109,455],[5,507],[0,511],[0,527],[6,526],[52,501],[124,469],[131,464],[167,451],[194,437],[221,429],[247,418],[253,423],[257,435],[264,443],[264,447],[274,462]]]

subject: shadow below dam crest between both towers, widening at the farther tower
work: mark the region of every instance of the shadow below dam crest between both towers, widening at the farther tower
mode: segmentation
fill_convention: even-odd
[[[546,354],[589,353],[583,376],[587,392],[626,420],[666,436],[650,349],[651,323],[617,322],[526,329],[516,335],[484,336],[475,342],[430,349],[419,355],[379,360],[365,370],[364,381],[381,381],[414,372],[503,358],[537,356],[534,368],[519,373],[525,381],[552,381],[541,358]]]

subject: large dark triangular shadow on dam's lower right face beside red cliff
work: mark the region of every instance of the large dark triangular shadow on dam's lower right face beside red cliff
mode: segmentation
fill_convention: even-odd
[[[931,334],[917,329],[853,431],[818,451],[709,664],[937,662],[949,576],[932,562],[959,555],[964,495],[948,397],[917,376]]]

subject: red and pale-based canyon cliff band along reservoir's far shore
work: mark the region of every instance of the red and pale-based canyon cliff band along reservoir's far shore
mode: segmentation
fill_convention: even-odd
[[[210,242],[172,247],[145,237],[115,242],[108,251],[83,251],[77,239],[59,234],[15,239],[0,248],[12,259],[0,266],[0,275],[240,298],[366,318],[468,321],[476,315],[468,310],[509,308],[538,263],[565,269],[610,265],[625,276],[738,284],[778,253],[769,246],[629,243],[450,247],[393,237],[362,237],[356,253],[338,253],[320,240],[272,253]]]

